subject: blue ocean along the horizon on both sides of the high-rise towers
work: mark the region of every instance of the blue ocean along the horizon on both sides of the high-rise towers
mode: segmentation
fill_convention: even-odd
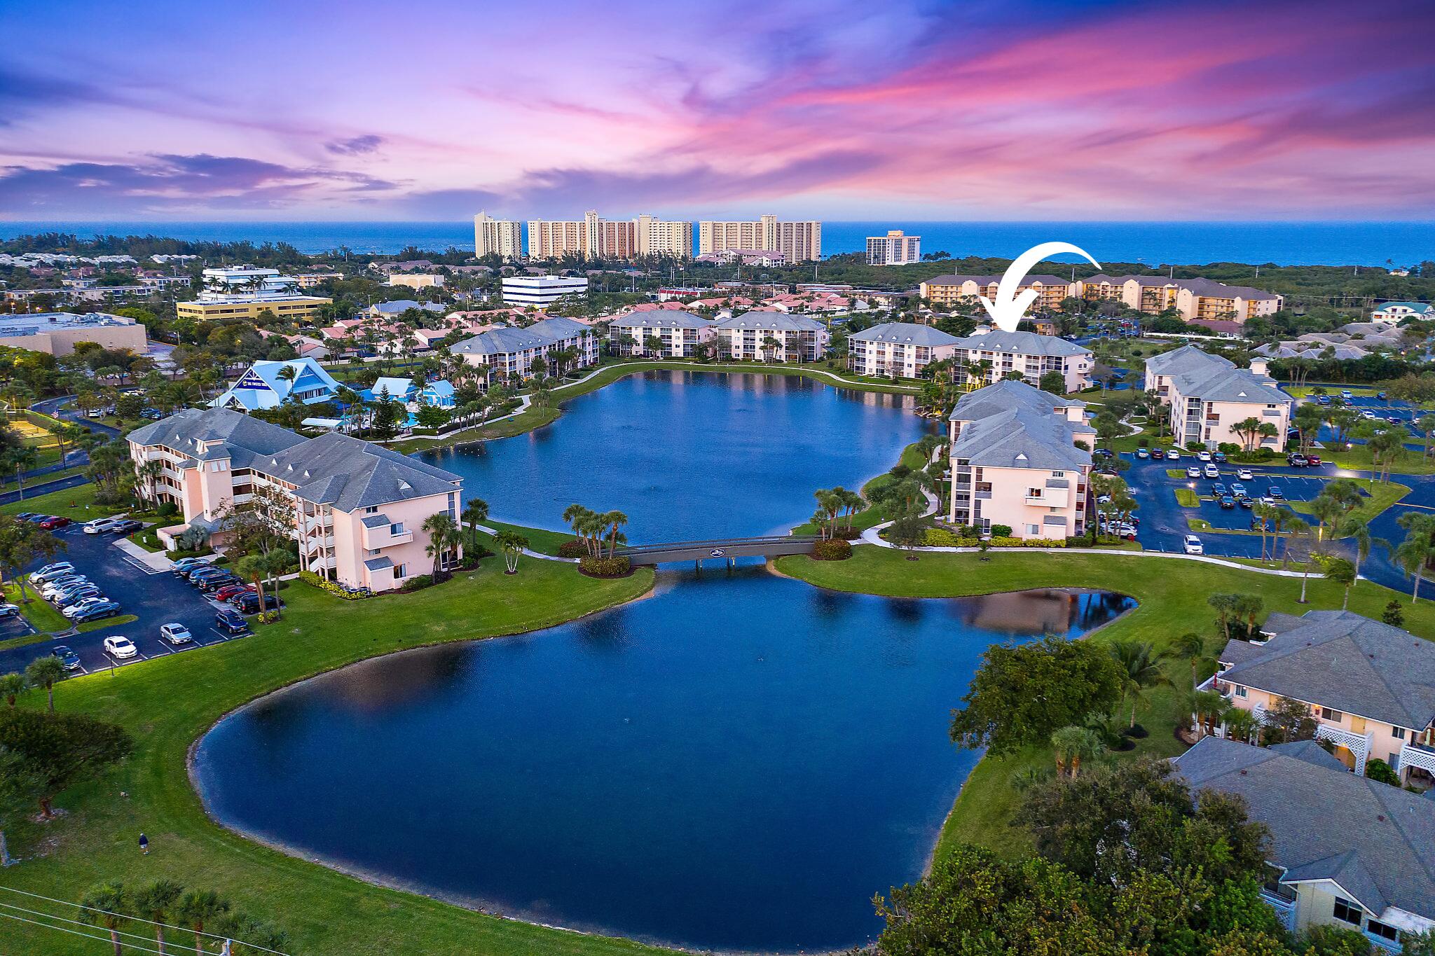
[[[1435,259],[1435,222],[824,222],[822,251],[860,252],[868,235],[904,229],[923,252],[1012,258],[1066,241],[1101,262],[1409,267]],[[301,252],[360,255],[406,247],[474,248],[469,222],[0,222],[0,239],[30,232],[161,235],[189,241],[288,242]],[[1066,257],[1071,258],[1071,257]],[[1073,259],[1075,261],[1075,259]]]

